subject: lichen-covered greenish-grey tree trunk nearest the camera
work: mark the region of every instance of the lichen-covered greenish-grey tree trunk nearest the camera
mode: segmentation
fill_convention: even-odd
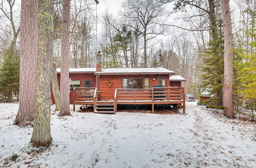
[[[49,147],[51,137],[50,73],[53,45],[53,0],[38,1],[38,44],[36,55],[35,120],[31,143]]]

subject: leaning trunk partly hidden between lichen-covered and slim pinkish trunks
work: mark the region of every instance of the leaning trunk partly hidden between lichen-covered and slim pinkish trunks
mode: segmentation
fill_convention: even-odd
[[[51,83],[52,83],[52,93],[55,101],[55,111],[60,109],[60,92],[59,92],[59,83],[56,72],[56,63],[53,60],[51,61]]]

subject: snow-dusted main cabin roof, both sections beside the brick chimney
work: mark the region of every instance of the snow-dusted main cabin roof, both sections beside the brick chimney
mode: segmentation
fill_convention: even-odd
[[[60,72],[60,68],[57,68]],[[102,71],[96,72],[96,68],[70,68],[70,73],[94,73],[94,74],[175,74],[165,68],[102,68]]]

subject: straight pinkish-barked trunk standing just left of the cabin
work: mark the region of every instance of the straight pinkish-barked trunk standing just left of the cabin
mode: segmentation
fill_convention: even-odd
[[[70,106],[69,106],[70,0],[63,0],[62,15],[63,15],[63,22],[62,22],[62,34],[61,34],[59,116],[67,116],[67,115],[70,115]]]

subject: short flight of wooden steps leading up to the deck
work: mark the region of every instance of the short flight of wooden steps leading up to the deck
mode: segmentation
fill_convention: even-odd
[[[114,101],[97,101],[94,113],[115,114]]]

